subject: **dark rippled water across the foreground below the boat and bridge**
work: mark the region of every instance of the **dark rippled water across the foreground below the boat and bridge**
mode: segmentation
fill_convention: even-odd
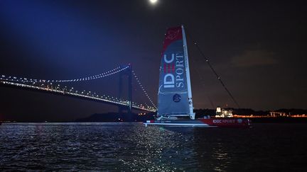
[[[43,171],[307,171],[306,124],[251,129],[141,123],[0,125],[0,169]]]

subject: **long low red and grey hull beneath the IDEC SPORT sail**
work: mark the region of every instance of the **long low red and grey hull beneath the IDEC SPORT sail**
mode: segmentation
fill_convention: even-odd
[[[251,127],[247,118],[218,117],[197,120],[147,120],[145,126],[157,125],[161,127]]]

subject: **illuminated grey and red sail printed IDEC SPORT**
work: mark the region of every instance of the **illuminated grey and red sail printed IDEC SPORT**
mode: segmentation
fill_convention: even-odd
[[[168,28],[166,31],[161,53],[157,115],[195,117],[183,26]]]

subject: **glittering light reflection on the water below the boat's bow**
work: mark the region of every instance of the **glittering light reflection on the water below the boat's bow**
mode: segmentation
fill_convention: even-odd
[[[135,126],[136,127],[136,126]],[[136,127],[125,139],[131,142],[129,147],[133,159],[122,157],[129,170],[140,171],[176,171],[180,169],[181,150],[183,147],[178,139],[183,135],[164,130],[161,127]]]

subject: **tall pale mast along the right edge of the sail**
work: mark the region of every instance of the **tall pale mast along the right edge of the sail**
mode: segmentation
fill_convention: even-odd
[[[183,52],[185,57],[185,73],[187,76],[187,85],[188,85],[188,102],[189,102],[189,109],[190,109],[190,119],[195,119],[195,113],[193,113],[193,101],[192,101],[192,88],[190,84],[190,67],[188,64],[188,45],[185,38],[185,31],[183,25],[181,25],[182,34],[183,34]]]

